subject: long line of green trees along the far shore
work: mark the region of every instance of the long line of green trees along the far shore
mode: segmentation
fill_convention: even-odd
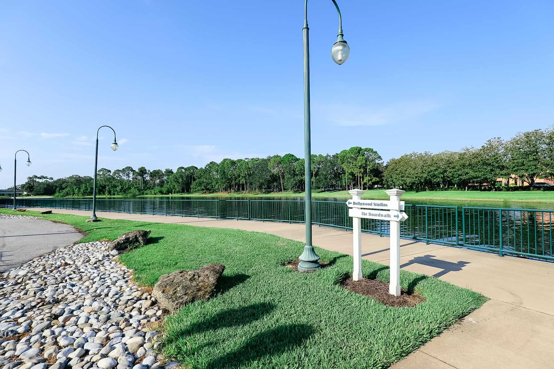
[[[294,154],[266,158],[223,159],[203,168],[133,169],[97,173],[97,194],[162,195],[178,193],[259,192],[304,190],[304,159]],[[536,178],[554,178],[554,128],[520,132],[504,141],[491,138],[481,147],[458,152],[414,152],[383,163],[372,148],[351,147],[336,154],[312,155],[312,188],[316,190],[371,189],[376,186],[405,190],[495,189],[497,178],[511,185],[519,178],[529,185]],[[33,195],[89,196],[91,176],[53,179],[33,175],[20,186]]]

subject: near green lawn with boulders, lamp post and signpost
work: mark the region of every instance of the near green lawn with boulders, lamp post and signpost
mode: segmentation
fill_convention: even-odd
[[[345,254],[317,248],[322,261],[334,264],[315,273],[283,267],[281,262],[296,259],[304,247],[286,238],[152,222],[86,223],[86,217],[65,214],[43,217],[81,228],[88,233],[81,242],[150,229],[152,243],[120,256],[141,284],[153,285],[179,269],[225,265],[216,297],[166,319],[163,352],[187,368],[387,368],[487,300],[443,280],[401,271],[402,287],[427,301],[391,308],[337,285],[352,271],[352,257]],[[364,276],[388,282],[388,267],[362,260],[362,268]]]

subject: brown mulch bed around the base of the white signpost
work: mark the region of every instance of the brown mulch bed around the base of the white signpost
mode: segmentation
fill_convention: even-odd
[[[425,302],[425,298],[417,292],[409,292],[406,289],[400,290],[400,296],[396,297],[388,293],[388,283],[377,279],[352,280],[348,277],[341,283],[347,290],[366,297],[371,297],[384,305],[395,308],[412,308],[419,303]]]

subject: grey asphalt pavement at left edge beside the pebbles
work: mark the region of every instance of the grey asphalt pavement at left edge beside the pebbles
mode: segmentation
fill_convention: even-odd
[[[81,238],[82,233],[66,224],[39,219],[0,219],[0,272]]]

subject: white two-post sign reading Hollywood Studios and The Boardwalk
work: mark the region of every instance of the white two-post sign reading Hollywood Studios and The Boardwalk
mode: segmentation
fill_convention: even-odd
[[[400,224],[408,216],[404,210],[404,201],[400,201],[400,196],[404,191],[392,189],[385,191],[390,196],[391,200],[361,200],[361,196],[365,191],[350,190],[352,200],[346,201],[348,216],[352,217],[353,231],[353,254],[354,267],[352,271],[352,279],[362,279],[362,218],[388,220],[391,222],[391,282],[388,285],[388,292],[391,295],[400,295]],[[380,210],[373,210],[380,209]]]

